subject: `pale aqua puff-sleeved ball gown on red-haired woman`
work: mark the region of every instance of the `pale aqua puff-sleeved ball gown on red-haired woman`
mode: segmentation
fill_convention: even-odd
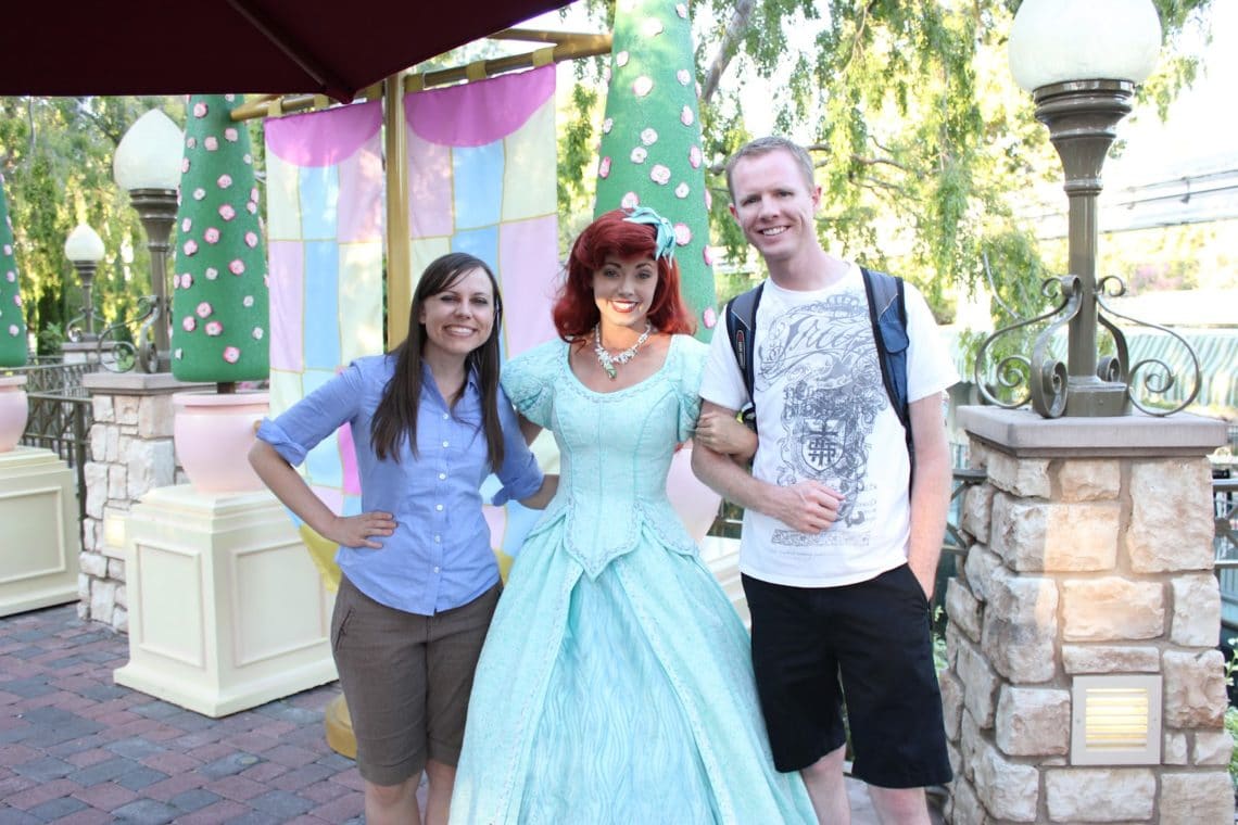
[[[676,335],[661,370],[612,393],[563,341],[504,366],[561,480],[478,664],[453,825],[816,823],[774,768],[748,632],[666,497],[707,353]]]

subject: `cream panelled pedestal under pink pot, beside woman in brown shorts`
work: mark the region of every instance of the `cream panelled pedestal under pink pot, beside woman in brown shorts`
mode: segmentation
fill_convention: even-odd
[[[118,684],[225,716],[335,679],[328,592],[269,492],[152,490],[129,515]]]

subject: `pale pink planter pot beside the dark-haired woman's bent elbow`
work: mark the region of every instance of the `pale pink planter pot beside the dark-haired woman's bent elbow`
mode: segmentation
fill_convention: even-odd
[[[198,492],[253,492],[262,481],[249,466],[254,430],[270,408],[267,392],[178,392],[172,396],[176,455]]]

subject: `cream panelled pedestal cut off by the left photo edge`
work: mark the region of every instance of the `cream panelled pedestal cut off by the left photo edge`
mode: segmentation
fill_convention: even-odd
[[[0,616],[78,600],[77,480],[51,450],[0,453]]]

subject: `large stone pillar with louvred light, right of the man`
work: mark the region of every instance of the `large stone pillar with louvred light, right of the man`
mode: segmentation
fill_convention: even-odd
[[[988,480],[963,502],[971,545],[946,592],[950,820],[1232,823],[1206,458],[1224,425],[989,407],[959,421]],[[1072,751],[1075,680],[1108,674],[1160,685],[1148,757]]]

